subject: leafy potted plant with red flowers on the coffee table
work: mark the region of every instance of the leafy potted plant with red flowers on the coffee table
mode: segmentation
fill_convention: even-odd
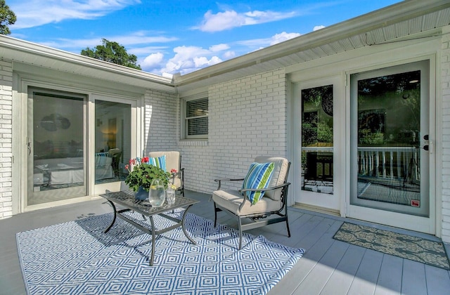
[[[167,183],[169,182],[171,174],[148,163],[148,157],[142,157],[130,159],[129,164],[125,165],[125,169],[129,172],[127,178],[125,178],[125,183],[127,183],[129,188],[134,190],[134,192],[144,190],[148,195],[150,184],[153,179],[160,179],[165,188],[167,188]]]

